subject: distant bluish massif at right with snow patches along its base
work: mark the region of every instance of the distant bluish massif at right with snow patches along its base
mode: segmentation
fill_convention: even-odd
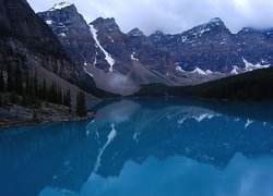
[[[206,73],[238,74],[273,63],[270,35],[270,30],[251,28],[232,34],[224,22],[215,17],[181,34],[156,32],[150,39],[156,48],[169,52],[183,71],[199,69]]]

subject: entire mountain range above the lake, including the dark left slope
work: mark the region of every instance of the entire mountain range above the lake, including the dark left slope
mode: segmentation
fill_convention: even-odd
[[[273,64],[273,28],[233,34],[215,17],[180,34],[146,36],[136,27],[122,33],[115,19],[87,23],[68,2],[37,14],[25,0],[0,5],[0,62],[41,65],[97,97],[128,96],[151,84],[195,85]]]

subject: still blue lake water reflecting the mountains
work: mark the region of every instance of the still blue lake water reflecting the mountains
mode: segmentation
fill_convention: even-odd
[[[1,196],[273,195],[272,103],[118,100],[0,130]]]

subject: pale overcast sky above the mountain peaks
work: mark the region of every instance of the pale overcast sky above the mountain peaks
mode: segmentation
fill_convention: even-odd
[[[35,12],[49,10],[58,0],[27,0]],[[121,30],[139,27],[146,35],[180,33],[212,17],[221,17],[233,32],[244,26],[273,27],[273,0],[70,0],[87,23],[115,17]]]

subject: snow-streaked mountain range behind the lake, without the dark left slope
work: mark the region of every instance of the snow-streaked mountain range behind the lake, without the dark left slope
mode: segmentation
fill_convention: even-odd
[[[142,85],[194,85],[273,64],[272,29],[233,34],[218,17],[180,34],[146,36],[138,27],[122,33],[115,19],[87,24],[67,2],[37,14],[57,35],[83,83],[123,96]]]

